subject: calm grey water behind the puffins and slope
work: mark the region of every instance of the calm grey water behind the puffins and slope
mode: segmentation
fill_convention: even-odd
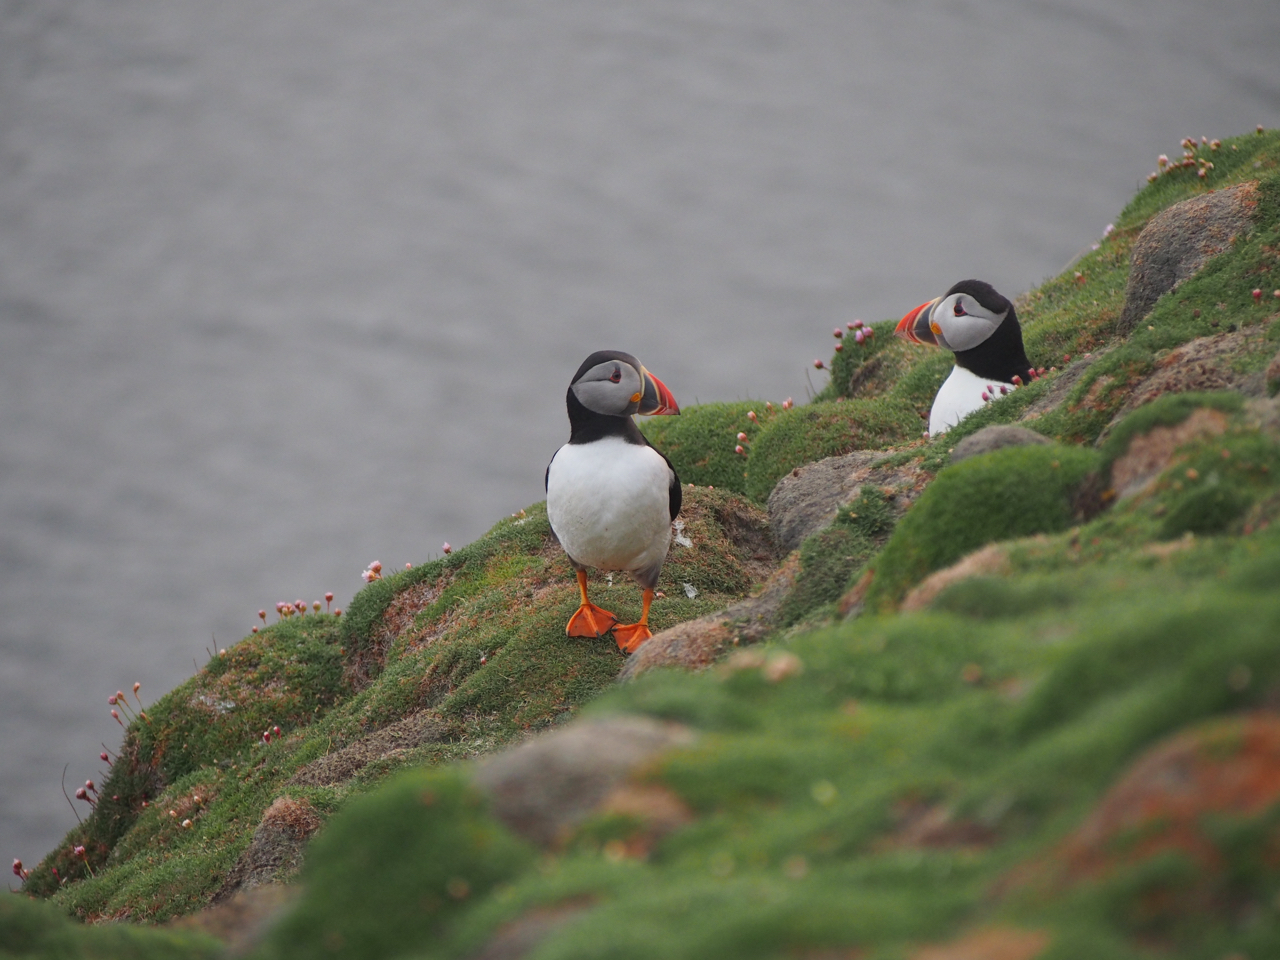
[[[1275,0],[0,0],[0,854],[73,823],[116,687],[540,499],[590,351],[803,399],[833,325],[1024,291],[1181,137],[1280,124],[1277,36]]]

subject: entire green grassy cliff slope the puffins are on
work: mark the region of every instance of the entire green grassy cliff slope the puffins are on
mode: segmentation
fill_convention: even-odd
[[[920,435],[948,358],[890,321],[845,338],[813,403],[645,426],[691,483],[655,630],[763,582],[780,558],[758,504],[795,467],[883,449],[937,476],[882,549],[874,490],[810,538],[795,626],[767,645],[616,687],[612,643],[563,635],[576,588],[538,504],[340,618],[215,657],[129,726],[23,890],[79,920],[166,920],[292,882],[305,850],[264,957],[1280,954],[1280,133],[1188,154],[1019,300],[1046,375],[950,434]],[[1245,182],[1251,229],[1121,335],[1143,227]],[[1055,443],[948,463],[1014,421]],[[992,541],[978,575],[919,593]],[[639,614],[631,585],[593,590]],[[690,739],[634,776],[645,800],[535,846],[470,760],[584,712]],[[673,826],[653,829],[658,808]],[[68,923],[19,901],[0,956],[211,950]]]

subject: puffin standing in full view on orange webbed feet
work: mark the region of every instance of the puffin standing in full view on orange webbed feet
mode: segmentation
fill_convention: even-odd
[[[671,390],[630,353],[596,351],[577,369],[564,398],[568,443],[547,465],[547,518],[577,572],[582,598],[568,636],[599,637],[609,630],[623,653],[653,634],[649,604],[680,516],[680,477],[666,454],[640,433],[635,413],[680,413]],[[618,623],[586,596],[586,570],[622,571],[643,590],[635,623]]]

